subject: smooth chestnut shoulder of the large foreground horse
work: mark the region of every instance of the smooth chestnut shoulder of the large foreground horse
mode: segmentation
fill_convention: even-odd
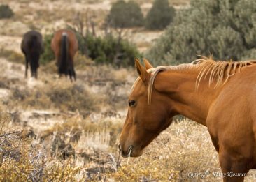
[[[245,88],[253,86],[251,82],[242,84],[246,78],[237,76],[222,87],[206,120],[215,149],[218,146],[218,150],[225,150],[234,158],[239,154],[243,158],[256,158],[255,89],[245,92]]]

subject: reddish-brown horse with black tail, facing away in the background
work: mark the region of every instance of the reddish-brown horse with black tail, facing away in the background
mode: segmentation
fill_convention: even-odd
[[[62,74],[69,75],[72,82],[72,77],[76,80],[76,72],[73,68],[73,57],[78,51],[78,40],[75,33],[71,30],[61,29],[56,31],[52,38],[51,48],[57,59],[59,76]]]

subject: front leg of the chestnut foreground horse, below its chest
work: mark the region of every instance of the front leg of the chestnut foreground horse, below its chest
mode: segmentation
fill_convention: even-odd
[[[242,182],[248,173],[248,162],[246,159],[233,159],[229,153],[222,151],[219,153],[220,167],[224,182]]]

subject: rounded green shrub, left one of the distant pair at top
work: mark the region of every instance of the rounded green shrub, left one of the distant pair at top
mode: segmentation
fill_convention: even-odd
[[[135,1],[125,2],[123,0],[113,3],[106,21],[115,28],[127,28],[143,25],[143,14],[141,7]]]

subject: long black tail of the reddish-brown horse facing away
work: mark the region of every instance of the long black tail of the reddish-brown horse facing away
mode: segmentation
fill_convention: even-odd
[[[69,37],[66,32],[62,33],[62,44],[59,60],[59,75],[68,75],[68,59],[69,59]]]

